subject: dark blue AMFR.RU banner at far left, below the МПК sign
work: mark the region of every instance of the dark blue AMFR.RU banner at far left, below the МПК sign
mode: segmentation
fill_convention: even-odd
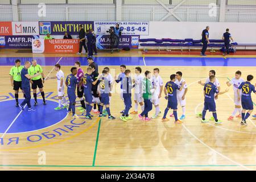
[[[39,35],[0,36],[0,48],[32,48],[32,39],[39,39]]]

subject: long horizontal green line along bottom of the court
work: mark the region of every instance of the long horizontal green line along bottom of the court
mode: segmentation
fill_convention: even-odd
[[[247,167],[256,167],[254,164],[245,164],[243,166]],[[81,167],[81,168],[93,168],[93,167],[98,167],[98,168],[129,168],[129,167],[240,167],[239,165],[168,165],[168,166],[66,166],[66,165],[0,165],[0,167]]]

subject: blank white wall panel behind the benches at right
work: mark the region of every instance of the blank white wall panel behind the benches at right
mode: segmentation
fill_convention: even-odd
[[[235,42],[256,44],[256,23],[150,22],[150,35],[141,38],[201,39],[201,32],[206,26],[210,26],[210,39],[221,39],[226,28],[229,28]]]

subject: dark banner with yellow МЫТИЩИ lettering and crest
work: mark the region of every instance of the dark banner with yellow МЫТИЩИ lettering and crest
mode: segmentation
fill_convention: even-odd
[[[39,22],[40,35],[63,35],[65,32],[71,35],[79,34],[79,25],[82,25],[85,32],[94,29],[92,21],[70,21],[70,22]]]

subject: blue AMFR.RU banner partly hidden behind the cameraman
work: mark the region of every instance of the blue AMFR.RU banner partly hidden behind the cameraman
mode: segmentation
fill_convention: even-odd
[[[98,49],[109,49],[109,35],[97,35],[96,46]],[[138,49],[139,35],[122,35],[119,38],[119,48],[129,47],[130,49]]]

